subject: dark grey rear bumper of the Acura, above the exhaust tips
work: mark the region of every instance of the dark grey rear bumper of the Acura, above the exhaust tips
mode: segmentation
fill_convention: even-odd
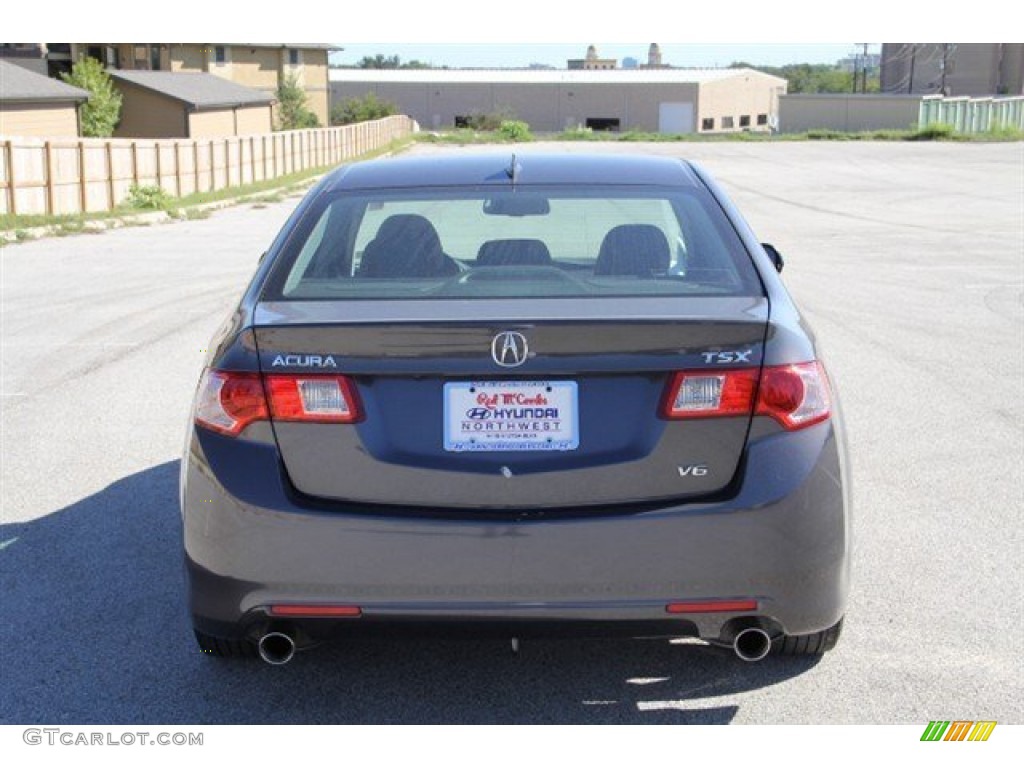
[[[845,609],[849,519],[830,423],[752,441],[728,501],[553,519],[312,509],[287,486],[269,435],[254,437],[194,434],[182,466],[190,608],[207,634],[256,636],[279,603],[361,609],[289,622],[313,639],[458,626],[717,640],[746,620],[818,632]],[[758,608],[666,610],[716,599]]]

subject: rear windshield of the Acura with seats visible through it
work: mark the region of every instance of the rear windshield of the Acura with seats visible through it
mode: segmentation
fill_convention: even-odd
[[[324,196],[264,300],[761,295],[699,189],[475,187]]]

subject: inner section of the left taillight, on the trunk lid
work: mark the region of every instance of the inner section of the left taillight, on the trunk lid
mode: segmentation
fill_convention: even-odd
[[[274,374],[264,381],[278,421],[351,424],[361,418],[355,389],[344,376]]]

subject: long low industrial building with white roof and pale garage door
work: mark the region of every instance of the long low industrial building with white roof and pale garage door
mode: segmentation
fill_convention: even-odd
[[[502,114],[535,131],[577,127],[660,133],[768,130],[786,81],[734,70],[343,70],[331,101],[374,93],[426,130]]]

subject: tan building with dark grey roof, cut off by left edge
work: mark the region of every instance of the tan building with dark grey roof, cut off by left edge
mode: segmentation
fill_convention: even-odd
[[[89,92],[0,58],[0,135],[77,136]]]

